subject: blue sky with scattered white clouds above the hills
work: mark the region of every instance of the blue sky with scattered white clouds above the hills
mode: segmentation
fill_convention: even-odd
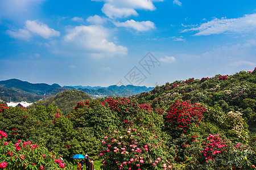
[[[0,0],[0,80],[153,87],[255,66],[255,0]]]

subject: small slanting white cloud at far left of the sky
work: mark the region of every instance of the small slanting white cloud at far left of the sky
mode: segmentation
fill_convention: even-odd
[[[55,31],[54,29],[49,28],[48,25],[40,23],[37,20],[27,20],[26,28],[28,29],[28,31],[36,33],[42,36],[44,39],[60,36],[59,31]]]

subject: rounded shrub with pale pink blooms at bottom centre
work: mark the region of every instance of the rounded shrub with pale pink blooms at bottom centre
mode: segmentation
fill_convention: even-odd
[[[158,134],[132,126],[109,130],[100,151],[103,169],[172,169],[174,151],[168,151]]]

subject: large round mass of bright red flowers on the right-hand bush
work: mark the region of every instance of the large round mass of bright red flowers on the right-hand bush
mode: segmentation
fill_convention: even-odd
[[[188,100],[177,100],[170,108],[166,117],[171,129],[188,129],[189,124],[193,122],[199,124],[206,111],[200,104],[191,104]]]

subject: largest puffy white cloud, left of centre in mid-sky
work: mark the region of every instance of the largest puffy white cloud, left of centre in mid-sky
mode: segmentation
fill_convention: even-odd
[[[126,55],[127,48],[109,42],[109,29],[100,25],[81,25],[68,30],[63,45],[69,52],[81,53],[84,56],[101,58],[105,56]],[[72,53],[72,52],[71,52]]]

